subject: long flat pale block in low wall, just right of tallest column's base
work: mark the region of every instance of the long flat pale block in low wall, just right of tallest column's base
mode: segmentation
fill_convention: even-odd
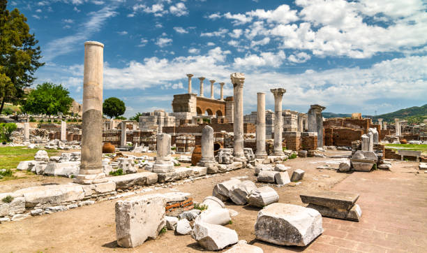
[[[128,189],[133,185],[153,185],[158,180],[158,174],[152,172],[134,173],[110,177],[108,180],[116,183],[116,189]]]

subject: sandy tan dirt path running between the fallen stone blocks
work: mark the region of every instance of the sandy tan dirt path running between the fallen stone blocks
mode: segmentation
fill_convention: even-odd
[[[375,171],[373,173],[336,173],[336,171],[317,170],[315,167],[322,165],[320,161],[331,161],[332,159],[307,158],[292,159],[285,161],[285,165],[292,166],[292,171],[302,168],[306,171],[306,176],[301,185],[276,187],[280,196],[280,203],[293,203],[302,205],[299,193],[312,189],[331,189],[338,184],[340,189],[351,191],[354,187],[352,178],[360,178],[361,175],[375,175],[377,178],[389,178],[391,175],[400,176],[402,173]],[[402,165],[403,164],[403,165]],[[396,163],[394,166],[404,167],[409,165],[414,167],[414,163]],[[412,171],[413,168],[407,168]],[[427,174],[426,174],[427,175]],[[186,191],[193,194],[195,201],[202,201],[205,196],[211,195],[213,186],[218,182],[236,176],[248,176],[248,180],[255,181],[253,171],[241,169],[231,173],[218,174],[213,178],[197,180],[195,182],[174,186],[174,189]],[[419,175],[421,180],[425,175]],[[368,180],[359,180],[357,184],[361,187]],[[408,181],[410,182],[410,181]],[[425,182],[425,181],[424,181]],[[261,186],[262,184],[257,184]],[[358,188],[360,189],[360,187]],[[363,189],[363,188],[362,188]],[[424,189],[425,190],[425,189]],[[170,189],[162,189],[153,192],[166,192]],[[139,247],[133,249],[123,249],[117,246],[114,222],[114,203],[116,201],[103,201],[91,206],[57,212],[52,215],[39,217],[29,217],[20,222],[8,222],[0,224],[0,248],[1,252],[200,252],[195,240],[190,236],[174,236],[172,231],[167,231],[156,240],[149,240]],[[398,205],[398,203],[396,203]],[[227,203],[227,208],[239,212],[233,218],[233,223],[227,225],[230,229],[235,229],[239,235],[239,240],[247,240],[248,243],[263,248],[264,252],[284,252],[303,251],[315,247],[321,243],[317,238],[315,243],[308,248],[301,247],[279,247],[255,240],[254,224],[257,217],[258,208],[234,205]],[[362,206],[365,212],[370,206]],[[338,221],[337,219],[325,219],[327,223]]]

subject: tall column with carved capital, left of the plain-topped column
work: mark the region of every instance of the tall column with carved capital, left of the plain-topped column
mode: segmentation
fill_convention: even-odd
[[[230,75],[234,94],[234,157],[244,157],[244,128],[243,128],[243,87],[244,73]]]

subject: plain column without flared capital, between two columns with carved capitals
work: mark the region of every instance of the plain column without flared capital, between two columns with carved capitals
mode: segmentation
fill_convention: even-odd
[[[265,151],[265,93],[257,93],[257,152],[256,158],[267,157]]]

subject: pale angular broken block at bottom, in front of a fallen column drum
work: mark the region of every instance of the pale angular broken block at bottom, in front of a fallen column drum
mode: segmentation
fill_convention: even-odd
[[[205,250],[222,250],[239,240],[236,231],[225,226],[203,222],[195,223],[191,236]]]

